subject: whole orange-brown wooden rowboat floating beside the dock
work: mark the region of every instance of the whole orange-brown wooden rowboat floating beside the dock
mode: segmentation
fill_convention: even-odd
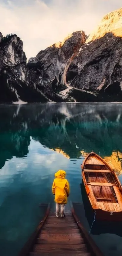
[[[122,186],[114,170],[94,152],[87,155],[81,168],[95,218],[122,221]]]

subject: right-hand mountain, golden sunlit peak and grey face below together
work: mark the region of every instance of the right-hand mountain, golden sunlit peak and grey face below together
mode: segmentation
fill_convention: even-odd
[[[122,9],[103,18],[87,38],[75,65],[78,74],[71,82],[73,87],[113,95],[113,99],[118,95],[121,99]]]

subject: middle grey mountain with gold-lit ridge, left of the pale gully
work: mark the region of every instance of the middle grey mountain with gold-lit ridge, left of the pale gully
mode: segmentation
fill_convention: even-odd
[[[30,58],[28,69],[35,87],[38,85],[46,87],[47,84],[55,89],[57,85],[64,84],[67,62],[75,52],[79,52],[85,42],[85,37],[83,31],[73,32],[63,42],[55,43],[40,51],[35,58]],[[32,73],[33,75],[31,75]]]

